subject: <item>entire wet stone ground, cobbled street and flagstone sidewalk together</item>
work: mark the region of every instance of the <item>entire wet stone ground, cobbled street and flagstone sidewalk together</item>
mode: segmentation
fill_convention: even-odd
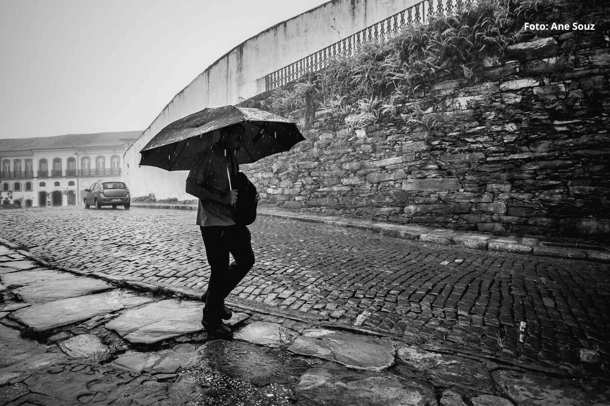
[[[603,261],[259,216],[222,341],[194,213],[0,223],[0,404],[610,404]]]

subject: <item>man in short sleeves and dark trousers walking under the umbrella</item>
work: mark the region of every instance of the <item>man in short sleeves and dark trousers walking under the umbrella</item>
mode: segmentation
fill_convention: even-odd
[[[234,184],[239,172],[235,151],[241,141],[239,128],[216,130],[212,148],[196,155],[186,180],[186,192],[199,199],[196,224],[210,265],[207,291],[201,297],[206,303],[201,324],[218,338],[228,338],[232,333],[223,322],[231,318],[224,299],[254,265],[250,231],[232,219],[239,191],[229,185]],[[258,193],[256,199],[260,199]],[[234,259],[231,263],[229,253]]]

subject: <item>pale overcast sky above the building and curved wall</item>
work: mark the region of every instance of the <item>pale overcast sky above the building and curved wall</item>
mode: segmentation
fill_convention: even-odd
[[[0,0],[0,138],[145,130],[226,52],[326,1]]]

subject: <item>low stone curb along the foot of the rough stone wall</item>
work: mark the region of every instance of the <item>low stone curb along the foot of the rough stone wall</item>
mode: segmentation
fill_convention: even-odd
[[[184,204],[132,204],[132,207],[163,208],[173,210],[197,210],[195,205]],[[425,226],[381,223],[368,219],[341,216],[316,216],[307,213],[287,212],[261,207],[258,215],[284,218],[307,223],[328,224],[336,227],[354,228],[379,233],[387,237],[423,241],[443,245],[456,245],[481,251],[514,252],[516,254],[537,255],[564,259],[580,259],[610,263],[610,251],[600,248],[572,249],[545,245],[536,238],[489,235],[450,229],[434,229]]]

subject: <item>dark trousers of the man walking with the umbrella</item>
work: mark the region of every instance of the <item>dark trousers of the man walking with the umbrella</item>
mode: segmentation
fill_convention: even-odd
[[[206,246],[207,263],[210,264],[203,314],[209,322],[220,323],[224,298],[254,265],[251,235],[246,226],[208,226],[201,227],[201,237]],[[229,253],[234,259],[231,264]]]

